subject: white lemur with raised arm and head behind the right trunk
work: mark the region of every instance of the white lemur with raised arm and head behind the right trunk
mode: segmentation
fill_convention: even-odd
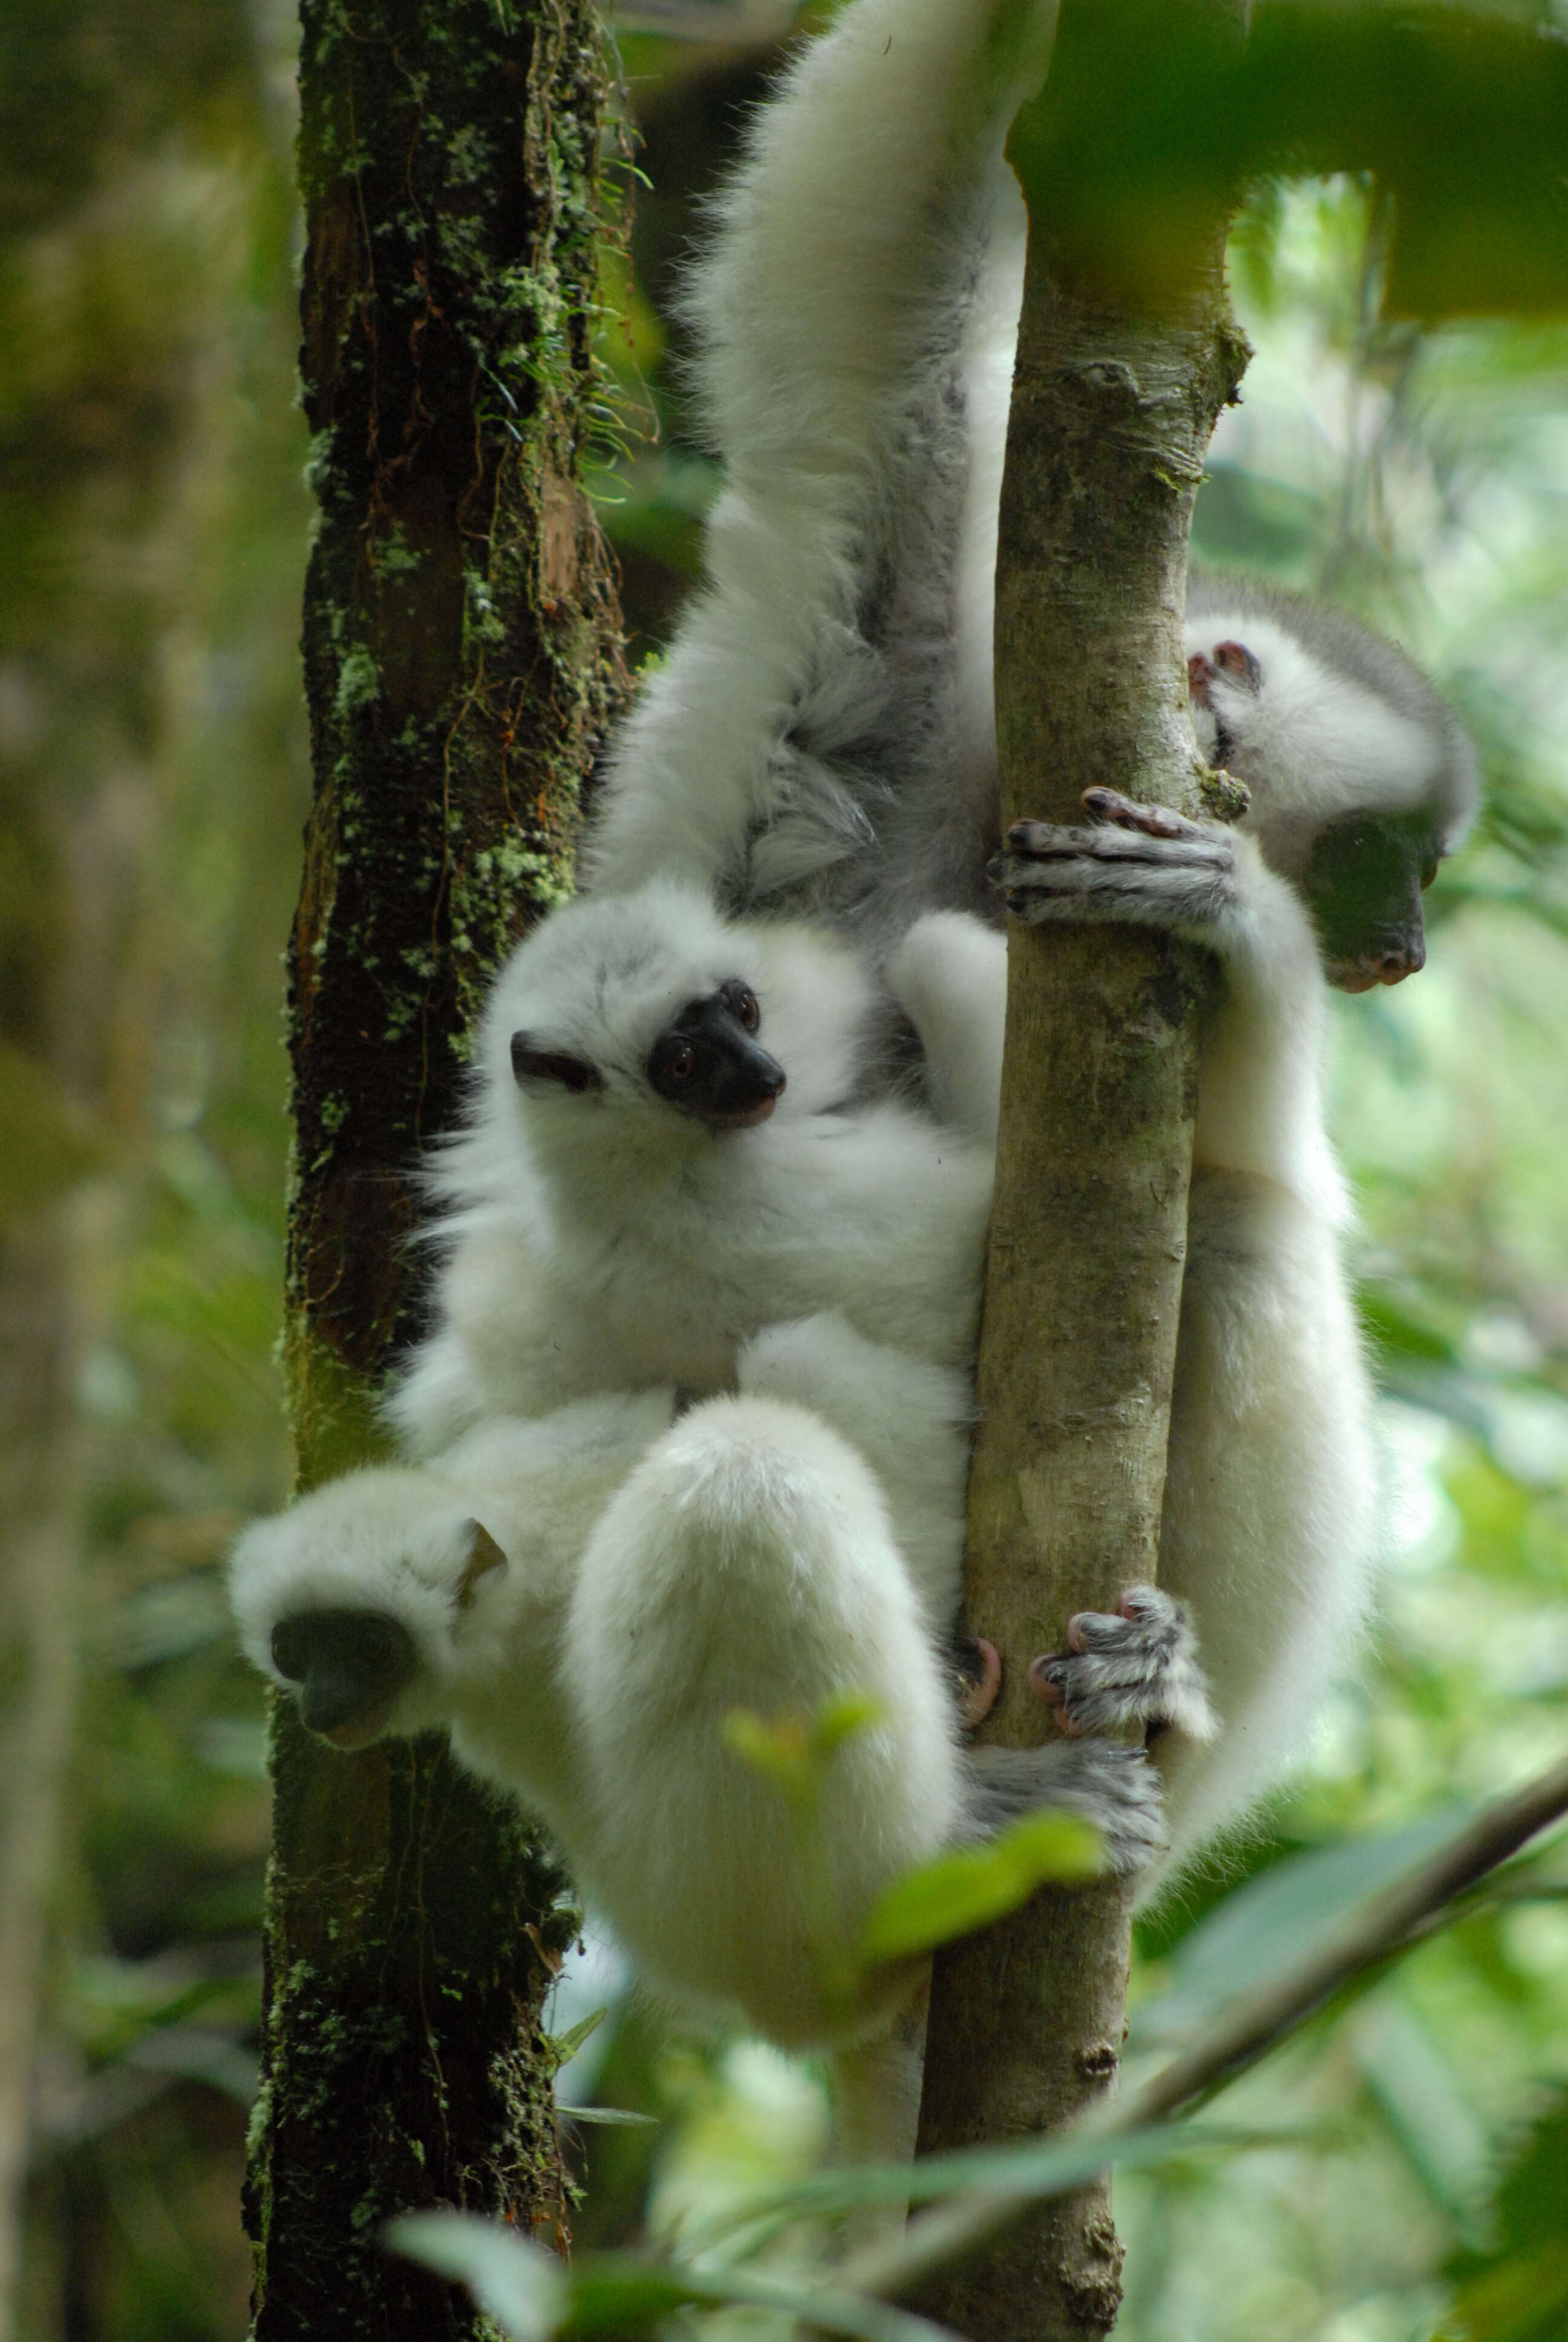
[[[1165,1721],[1191,1658],[1167,1597],[1186,1604],[1221,1735],[1158,1742],[1179,1862],[1277,1778],[1369,1597],[1371,1389],[1322,1127],[1322,977],[1364,988],[1420,967],[1420,888],[1477,773],[1392,644],[1193,578],[1198,738],[1247,782],[1242,822],[1095,792],[1080,829],[998,836],[991,586],[1024,255],[1001,136],[1052,33],[1043,5],[1022,54],[1027,14],[853,0],[755,119],[689,293],[724,461],[708,586],[612,742],[586,881],[670,871],[745,916],[839,925],[893,958],[938,1066],[954,1063],[952,998],[898,958],[914,920],[998,923],[1005,904],[1170,927],[1219,956],[1163,1593],[1073,1621],[1036,1670],[1069,1726]],[[1003,939],[989,979],[987,939],[970,927],[968,946],[961,1016],[989,981],[1001,1035]],[[938,1073],[940,1112],[980,1127],[996,1059],[963,1098]]]

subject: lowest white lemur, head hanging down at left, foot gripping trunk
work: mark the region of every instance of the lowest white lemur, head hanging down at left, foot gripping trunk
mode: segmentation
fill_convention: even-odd
[[[1118,1869],[1160,1843],[1137,1749],[959,1747],[902,1553],[930,1372],[830,1314],[743,1344],[738,1396],[680,1419],[668,1386],[586,1398],[335,1480],[239,1541],[244,1646],[340,1747],[450,1726],[551,1824],[652,1986],[837,2045],[853,2094],[909,1972],[851,1977],[844,1956],[902,1869],[1043,1801],[1092,1815]],[[877,1717],[797,1838],[724,1719],[846,1693]],[[870,2143],[877,2089],[860,2101]]]

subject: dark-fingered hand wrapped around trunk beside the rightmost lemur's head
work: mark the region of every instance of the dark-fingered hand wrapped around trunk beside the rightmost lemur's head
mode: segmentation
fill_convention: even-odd
[[[1090,827],[1015,822],[991,883],[1031,927],[1125,920],[1212,927],[1230,904],[1235,843],[1212,822],[1085,789]]]

